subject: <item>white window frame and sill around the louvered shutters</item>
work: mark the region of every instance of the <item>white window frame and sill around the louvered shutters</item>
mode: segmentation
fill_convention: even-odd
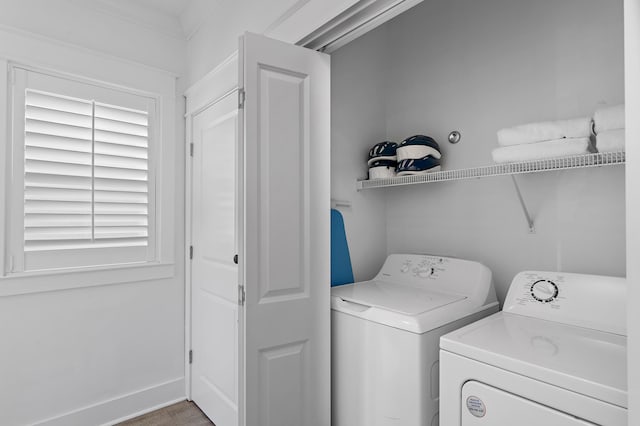
[[[2,270],[0,280],[4,280],[6,278],[26,278],[27,281],[33,277],[41,277],[46,275],[58,275],[58,274],[70,274],[70,273],[86,273],[91,271],[100,272],[102,277],[97,279],[96,282],[105,281],[103,278],[104,271],[114,271],[114,275],[112,278],[107,279],[106,281],[111,282],[126,282],[131,281],[133,279],[129,279],[129,277],[133,277],[134,275],[138,275],[140,272],[131,274],[132,270],[144,270],[147,269],[147,272],[144,273],[147,276],[147,279],[153,278],[162,278],[171,276],[173,274],[173,263],[163,261],[161,259],[161,241],[162,241],[162,231],[161,231],[161,191],[160,191],[160,171],[162,169],[163,161],[162,161],[162,151],[165,141],[163,140],[163,128],[162,128],[162,102],[163,97],[160,94],[152,93],[144,90],[133,89],[130,87],[117,85],[108,83],[105,81],[95,80],[91,78],[86,78],[78,75],[73,75],[69,73],[63,73],[59,71],[53,71],[51,69],[44,69],[39,67],[34,67],[30,65],[25,65],[23,63],[2,61],[6,64],[5,71],[6,77],[8,81],[7,85],[7,114],[6,117],[6,128],[7,128],[7,144],[5,147],[5,184],[2,188],[1,195],[4,195],[3,199],[5,200],[4,209],[3,209],[3,222],[4,222],[4,246],[2,247]],[[105,263],[96,263],[87,261],[86,264],[78,264],[78,265],[64,265],[61,267],[46,267],[46,268],[34,268],[34,269],[25,269],[24,267],[24,259],[25,259],[25,250],[24,250],[24,123],[20,125],[18,123],[19,120],[24,120],[24,110],[25,105],[22,102],[18,105],[16,101],[15,92],[16,90],[24,90],[28,89],[27,85],[17,86],[16,83],[16,75],[22,71],[37,73],[45,76],[46,78],[53,79],[61,79],[70,82],[70,84],[79,84],[85,86],[94,86],[96,90],[106,90],[113,91],[114,93],[123,93],[126,96],[139,97],[148,100],[150,108],[149,112],[149,136],[148,136],[148,243],[146,256],[144,260],[118,260],[116,259],[113,262],[105,262]],[[0,74],[1,77],[1,74]],[[40,89],[36,89],[40,90]],[[65,93],[60,93],[61,95],[66,95]],[[24,101],[24,96],[22,96],[22,100]],[[16,108],[20,108],[20,110],[16,110]],[[1,109],[0,109],[1,112]],[[0,121],[1,124],[1,121]],[[121,248],[91,248],[89,249],[92,254],[88,257],[100,257],[99,252],[113,252],[114,250],[120,250]],[[73,251],[69,250],[69,255],[72,255]],[[51,250],[51,251],[43,251],[41,252],[43,257],[45,257],[48,253],[53,257],[63,256],[64,250]],[[117,256],[116,256],[117,257]],[[170,266],[170,268],[168,267]],[[129,271],[129,272],[127,272]],[[125,278],[126,277],[126,278]],[[68,286],[75,287],[69,281],[68,285],[55,285],[53,287],[61,287],[67,288]],[[77,286],[88,286],[80,285],[78,283]],[[99,284],[96,284],[99,285]],[[4,293],[6,289],[0,288],[0,295]],[[36,290],[37,291],[37,290]],[[9,290],[11,293],[11,291]]]

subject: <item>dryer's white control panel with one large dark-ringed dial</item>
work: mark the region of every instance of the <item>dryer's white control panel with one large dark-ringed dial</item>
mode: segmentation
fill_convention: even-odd
[[[626,334],[626,280],[566,272],[515,276],[504,312]]]

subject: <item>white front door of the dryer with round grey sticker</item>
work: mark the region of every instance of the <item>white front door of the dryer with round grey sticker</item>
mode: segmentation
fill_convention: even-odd
[[[595,425],[476,381],[462,386],[461,410],[461,426]]]

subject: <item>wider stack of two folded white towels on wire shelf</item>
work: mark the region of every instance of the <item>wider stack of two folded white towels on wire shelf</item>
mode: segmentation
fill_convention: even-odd
[[[543,160],[594,152],[589,137],[591,117],[523,124],[498,131],[496,163]]]

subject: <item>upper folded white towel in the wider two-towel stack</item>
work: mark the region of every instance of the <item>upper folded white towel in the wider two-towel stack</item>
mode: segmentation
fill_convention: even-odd
[[[498,144],[519,145],[561,138],[587,138],[591,134],[591,118],[543,121],[498,130]]]

